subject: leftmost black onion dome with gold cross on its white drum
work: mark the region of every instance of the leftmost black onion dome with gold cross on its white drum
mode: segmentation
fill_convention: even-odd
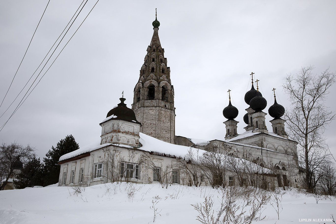
[[[225,140],[238,136],[237,124],[239,121],[234,120],[238,116],[238,109],[231,104],[230,91],[227,91],[229,93],[229,105],[223,109],[223,116],[227,119],[227,121],[223,122],[226,129]]]

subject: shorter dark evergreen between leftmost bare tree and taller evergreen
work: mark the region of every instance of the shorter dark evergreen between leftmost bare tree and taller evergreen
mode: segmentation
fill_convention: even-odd
[[[16,180],[14,179],[14,185],[17,189],[43,185],[43,172],[40,158],[37,159],[34,156],[34,158],[23,167],[21,172],[16,176]]]

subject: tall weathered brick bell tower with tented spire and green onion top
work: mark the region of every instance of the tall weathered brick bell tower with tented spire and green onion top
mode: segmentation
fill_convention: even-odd
[[[134,88],[132,109],[142,124],[140,132],[165,142],[175,143],[174,88],[170,68],[159,40],[160,22],[155,14],[153,37],[147,48],[140,78]]]

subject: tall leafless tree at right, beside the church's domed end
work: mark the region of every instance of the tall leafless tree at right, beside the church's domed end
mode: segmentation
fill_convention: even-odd
[[[329,88],[335,83],[335,72],[326,69],[313,74],[313,66],[285,78],[283,88],[292,102],[285,119],[293,140],[299,143],[298,165],[305,170],[304,182],[308,192],[314,190],[315,171],[327,161],[325,156],[326,126],[335,119],[335,113],[325,106]],[[322,152],[322,157],[320,156]],[[302,156],[301,156],[302,155]]]

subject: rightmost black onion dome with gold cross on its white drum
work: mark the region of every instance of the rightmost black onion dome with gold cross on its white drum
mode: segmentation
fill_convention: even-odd
[[[288,139],[288,135],[285,132],[286,120],[281,119],[281,117],[285,114],[285,108],[282,105],[277,103],[277,99],[275,96],[275,90],[276,89],[274,88],[272,89],[272,91],[274,91],[274,104],[268,108],[268,114],[274,119],[269,122],[272,124],[274,134],[277,134],[281,137]]]

